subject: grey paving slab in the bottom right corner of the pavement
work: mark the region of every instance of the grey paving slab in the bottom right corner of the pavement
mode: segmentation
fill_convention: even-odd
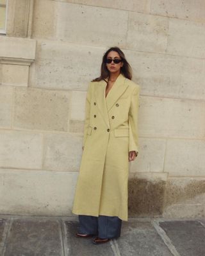
[[[205,228],[199,221],[163,221],[160,227],[181,256],[205,255]]]

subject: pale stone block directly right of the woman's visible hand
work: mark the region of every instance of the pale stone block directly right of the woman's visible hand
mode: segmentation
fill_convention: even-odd
[[[131,161],[131,172],[163,172],[166,140],[140,138],[139,154]]]

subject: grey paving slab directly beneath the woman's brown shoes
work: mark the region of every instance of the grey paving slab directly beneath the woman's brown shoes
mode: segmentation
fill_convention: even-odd
[[[115,256],[111,242],[106,244],[92,244],[92,238],[83,239],[75,237],[78,231],[77,221],[65,221],[65,236],[67,256]]]

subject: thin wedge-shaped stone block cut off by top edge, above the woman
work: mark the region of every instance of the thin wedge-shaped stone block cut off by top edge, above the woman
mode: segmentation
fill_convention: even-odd
[[[99,7],[106,7],[106,8],[113,8],[113,9],[120,9],[120,10],[129,10],[135,12],[148,12],[149,10],[149,0],[61,0],[68,3],[77,3],[81,5],[92,5],[92,6],[99,6]]]

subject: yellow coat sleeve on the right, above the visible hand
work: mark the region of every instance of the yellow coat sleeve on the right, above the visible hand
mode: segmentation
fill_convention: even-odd
[[[129,152],[138,152],[138,106],[139,106],[139,91],[137,86],[133,90],[131,96],[131,105],[129,108]]]

